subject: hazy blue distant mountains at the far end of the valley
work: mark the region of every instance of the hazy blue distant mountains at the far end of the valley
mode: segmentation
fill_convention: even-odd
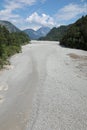
[[[50,31],[49,27],[41,27],[38,30],[26,29],[24,32],[29,35],[30,39],[39,39],[42,36],[45,36]]]

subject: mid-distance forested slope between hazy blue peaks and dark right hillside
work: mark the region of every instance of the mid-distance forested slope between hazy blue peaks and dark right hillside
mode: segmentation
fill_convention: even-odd
[[[40,40],[60,41],[68,28],[69,26],[54,27],[45,37],[40,37]]]

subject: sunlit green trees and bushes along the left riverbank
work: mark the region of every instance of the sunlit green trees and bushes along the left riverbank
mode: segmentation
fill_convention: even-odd
[[[4,26],[0,26],[0,68],[8,64],[7,58],[21,51],[21,45],[29,42],[24,32],[10,33]]]

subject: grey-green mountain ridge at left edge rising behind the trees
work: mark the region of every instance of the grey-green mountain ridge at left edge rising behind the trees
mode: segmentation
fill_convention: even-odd
[[[18,29],[16,26],[14,26],[12,23],[10,23],[8,21],[0,20],[0,25],[5,26],[10,33],[11,32],[20,32],[21,31],[20,29]]]

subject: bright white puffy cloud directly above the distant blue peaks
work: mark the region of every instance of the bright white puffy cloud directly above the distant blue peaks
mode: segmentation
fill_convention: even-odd
[[[39,26],[55,26],[54,19],[47,15],[47,14],[41,14],[39,15],[37,12],[34,12],[31,14],[27,19],[27,22],[36,24]]]

